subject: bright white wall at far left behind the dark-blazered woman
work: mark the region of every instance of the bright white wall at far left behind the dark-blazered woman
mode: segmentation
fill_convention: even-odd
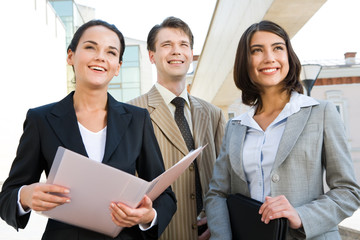
[[[29,108],[66,95],[65,29],[46,0],[4,1],[1,22],[0,183]]]

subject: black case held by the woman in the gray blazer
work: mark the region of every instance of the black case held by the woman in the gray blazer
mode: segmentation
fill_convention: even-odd
[[[230,194],[226,202],[234,240],[285,240],[288,220],[279,218],[263,223],[259,214],[262,202],[239,193]]]

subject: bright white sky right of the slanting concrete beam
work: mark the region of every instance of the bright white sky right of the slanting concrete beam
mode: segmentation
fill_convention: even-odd
[[[359,0],[327,0],[291,41],[300,60],[360,58],[359,24]]]

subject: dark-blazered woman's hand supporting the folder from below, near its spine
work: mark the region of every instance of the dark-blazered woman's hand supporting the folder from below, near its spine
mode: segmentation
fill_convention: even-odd
[[[137,208],[122,203],[111,203],[112,221],[120,227],[132,227],[137,224],[149,224],[155,217],[152,201],[145,196]]]

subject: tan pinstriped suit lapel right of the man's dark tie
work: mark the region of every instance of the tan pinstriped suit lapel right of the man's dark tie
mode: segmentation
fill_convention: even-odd
[[[201,145],[207,144],[203,142],[206,132],[208,131],[210,117],[205,113],[202,105],[196,100],[196,98],[189,95],[191,105],[191,118],[193,124],[193,138],[195,142],[195,148]],[[201,157],[197,158],[197,164],[201,169]]]

